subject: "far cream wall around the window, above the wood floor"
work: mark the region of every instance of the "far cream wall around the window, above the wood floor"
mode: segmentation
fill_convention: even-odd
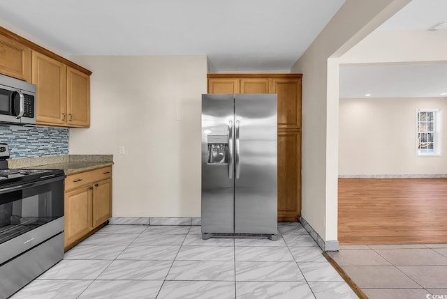
[[[416,109],[441,109],[440,157],[416,155]],[[339,174],[447,174],[447,98],[339,100]]]

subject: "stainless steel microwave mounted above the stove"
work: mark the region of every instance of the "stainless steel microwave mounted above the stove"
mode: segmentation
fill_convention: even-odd
[[[36,85],[0,75],[0,123],[36,124]]]

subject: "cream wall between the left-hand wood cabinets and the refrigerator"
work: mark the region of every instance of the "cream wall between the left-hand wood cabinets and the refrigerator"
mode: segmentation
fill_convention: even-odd
[[[70,59],[93,72],[91,128],[70,129],[70,153],[114,155],[112,215],[200,217],[207,57]]]

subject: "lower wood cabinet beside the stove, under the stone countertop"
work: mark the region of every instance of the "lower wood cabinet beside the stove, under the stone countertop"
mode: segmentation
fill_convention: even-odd
[[[112,167],[67,176],[64,205],[68,250],[112,216]]]

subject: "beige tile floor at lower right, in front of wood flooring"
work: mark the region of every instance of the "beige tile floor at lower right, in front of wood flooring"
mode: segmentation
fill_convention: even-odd
[[[328,254],[369,299],[447,298],[447,244],[344,245]]]

